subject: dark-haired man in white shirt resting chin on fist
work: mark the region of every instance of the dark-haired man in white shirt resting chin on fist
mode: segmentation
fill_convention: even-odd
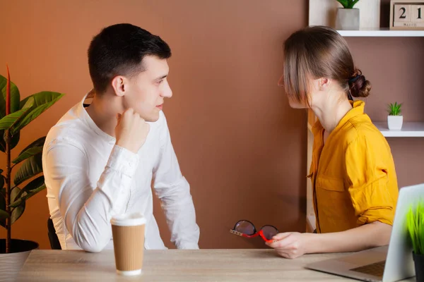
[[[110,219],[146,217],[146,249],[164,249],[153,216],[162,202],[171,241],[198,249],[189,183],[179,170],[162,107],[170,47],[130,24],[96,35],[88,49],[93,90],[49,130],[42,164],[49,211],[63,250],[113,249]],[[93,101],[83,104],[86,98]]]

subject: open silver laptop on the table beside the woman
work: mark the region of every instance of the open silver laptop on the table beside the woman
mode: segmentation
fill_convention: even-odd
[[[355,252],[353,255],[307,264],[307,269],[323,271],[362,281],[399,281],[415,276],[412,245],[406,228],[406,214],[424,200],[424,183],[399,190],[393,228],[388,246]]]

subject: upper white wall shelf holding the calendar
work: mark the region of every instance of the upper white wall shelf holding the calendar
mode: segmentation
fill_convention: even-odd
[[[389,28],[337,30],[343,37],[424,37],[424,30],[389,30]]]

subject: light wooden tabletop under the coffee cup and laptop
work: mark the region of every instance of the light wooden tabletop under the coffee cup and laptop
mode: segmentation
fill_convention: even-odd
[[[116,274],[113,251],[33,250],[18,281],[349,281],[305,269],[346,254],[283,259],[273,250],[146,250],[141,276]],[[354,280],[351,280],[354,281]],[[409,280],[414,281],[414,280]]]

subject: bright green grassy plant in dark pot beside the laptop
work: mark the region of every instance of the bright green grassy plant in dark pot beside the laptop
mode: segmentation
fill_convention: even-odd
[[[424,282],[424,202],[418,202],[415,210],[409,209],[406,226],[413,247],[416,281]]]

